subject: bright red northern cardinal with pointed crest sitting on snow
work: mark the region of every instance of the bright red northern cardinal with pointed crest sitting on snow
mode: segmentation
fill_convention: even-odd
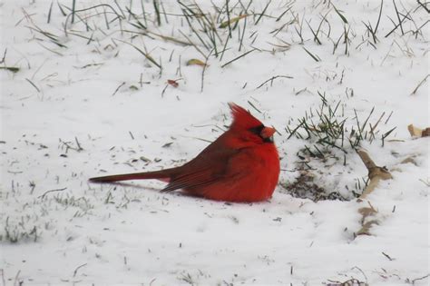
[[[182,189],[192,195],[225,202],[259,202],[275,191],[279,155],[273,133],[237,104],[229,104],[230,128],[197,157],[180,167],[154,172],[91,178],[90,182],[158,179],[169,184],[161,192]]]

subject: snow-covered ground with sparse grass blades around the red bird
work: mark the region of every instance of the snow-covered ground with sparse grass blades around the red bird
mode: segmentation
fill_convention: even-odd
[[[0,1],[0,284],[428,285],[429,141],[406,128],[429,125],[425,1],[76,1],[73,23],[72,3]],[[352,148],[344,165],[288,139],[323,101],[348,131],[382,116],[360,145],[393,179],[363,202]],[[269,202],[87,181],[190,160],[228,102],[279,131]],[[292,196],[303,161],[347,201]],[[357,236],[370,205],[377,224]]]

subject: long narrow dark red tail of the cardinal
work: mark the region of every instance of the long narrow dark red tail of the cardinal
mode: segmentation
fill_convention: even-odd
[[[171,175],[174,173],[176,168],[165,169],[154,172],[143,172],[143,173],[122,173],[103,177],[90,178],[90,182],[117,182],[117,181],[128,181],[128,180],[145,180],[145,179],[157,179],[163,182],[170,182]]]

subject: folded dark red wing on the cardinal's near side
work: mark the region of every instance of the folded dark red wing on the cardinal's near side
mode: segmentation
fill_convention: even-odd
[[[178,174],[171,178],[171,182],[161,192],[195,188],[226,180],[234,175],[230,165],[241,157],[240,153],[243,153],[241,149],[200,153],[190,163],[181,166]]]

